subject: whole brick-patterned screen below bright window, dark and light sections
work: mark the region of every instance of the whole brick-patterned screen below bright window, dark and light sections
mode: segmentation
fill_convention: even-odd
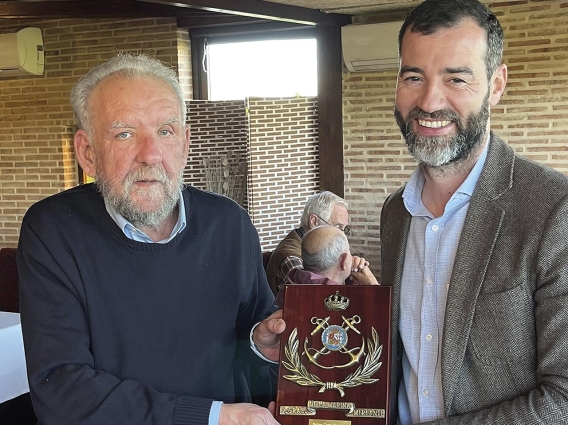
[[[247,116],[248,110],[248,116]],[[184,180],[206,188],[204,158],[247,161],[244,206],[264,250],[298,226],[306,198],[318,190],[315,98],[190,101],[189,159]],[[214,190],[222,193],[219,190]]]

